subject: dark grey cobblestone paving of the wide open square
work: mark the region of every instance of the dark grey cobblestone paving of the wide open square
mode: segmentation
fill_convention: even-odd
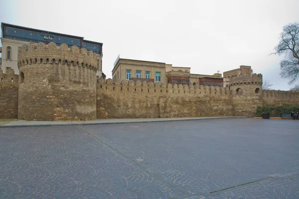
[[[297,198],[298,128],[251,118],[1,128],[0,198]]]

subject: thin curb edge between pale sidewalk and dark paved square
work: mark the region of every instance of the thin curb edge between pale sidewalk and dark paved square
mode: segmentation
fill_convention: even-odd
[[[191,121],[191,120],[205,120],[205,119],[227,119],[227,118],[248,118],[238,116],[228,117],[203,117],[203,118],[188,118],[185,119],[166,119],[166,120],[149,120],[149,121],[115,121],[115,122],[93,122],[93,123],[66,123],[66,124],[20,124],[20,125],[1,125],[0,128],[16,128],[16,127],[41,127],[41,126],[79,126],[79,125],[101,125],[101,124],[126,124],[126,123],[148,123],[148,122],[165,122],[165,121]]]

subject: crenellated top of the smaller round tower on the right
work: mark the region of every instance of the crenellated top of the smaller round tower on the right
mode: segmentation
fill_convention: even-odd
[[[229,79],[229,86],[233,87],[233,86],[244,86],[244,85],[258,85],[258,86],[262,86],[263,84],[263,75],[262,74],[252,74],[248,75],[248,76],[242,76],[242,75],[235,75],[232,76]]]

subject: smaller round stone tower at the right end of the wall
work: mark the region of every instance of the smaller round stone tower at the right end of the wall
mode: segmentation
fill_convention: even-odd
[[[262,74],[230,78],[227,87],[232,94],[234,116],[254,116],[257,107],[262,104],[262,84]]]

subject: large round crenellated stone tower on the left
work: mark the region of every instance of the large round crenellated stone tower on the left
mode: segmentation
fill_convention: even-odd
[[[97,56],[51,42],[18,48],[18,119],[96,119]]]

